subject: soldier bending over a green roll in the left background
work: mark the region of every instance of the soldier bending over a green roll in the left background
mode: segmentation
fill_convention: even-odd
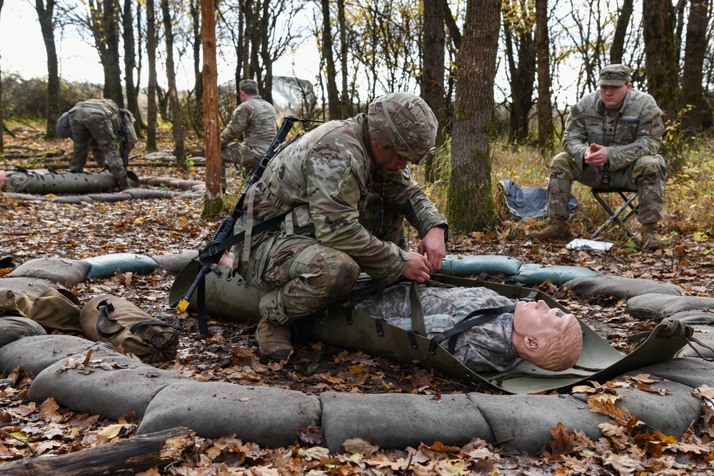
[[[122,121],[122,115],[124,121]],[[99,166],[109,165],[111,176],[127,188],[126,170],[116,147],[117,138],[124,134],[126,124],[127,147],[129,151],[136,145],[134,116],[126,109],[116,106],[111,99],[88,99],[74,105],[69,110],[69,126],[74,141],[74,151],[69,159],[69,171],[84,171],[89,149]]]

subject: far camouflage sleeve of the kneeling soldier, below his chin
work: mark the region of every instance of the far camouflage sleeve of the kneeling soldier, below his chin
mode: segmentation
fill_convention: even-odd
[[[426,236],[431,228],[442,226],[447,231],[444,238],[448,240],[446,217],[438,212],[426,193],[411,178],[408,168],[389,173],[385,178],[384,188],[385,205],[405,216],[406,220],[419,232],[421,238]]]

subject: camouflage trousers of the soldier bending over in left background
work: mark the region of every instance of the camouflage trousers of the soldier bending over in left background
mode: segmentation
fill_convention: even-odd
[[[94,108],[77,108],[69,114],[74,151],[69,159],[69,171],[84,171],[89,149],[99,166],[109,164],[111,176],[121,183],[126,181],[126,171],[119,149],[114,143],[114,128],[105,113]]]

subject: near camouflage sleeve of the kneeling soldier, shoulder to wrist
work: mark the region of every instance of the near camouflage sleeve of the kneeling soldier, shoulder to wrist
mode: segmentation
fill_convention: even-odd
[[[306,161],[315,236],[324,245],[350,255],[363,273],[391,283],[406,269],[408,256],[396,244],[379,240],[359,223],[366,175],[356,158],[350,161],[348,154],[341,155],[347,158],[330,155]]]

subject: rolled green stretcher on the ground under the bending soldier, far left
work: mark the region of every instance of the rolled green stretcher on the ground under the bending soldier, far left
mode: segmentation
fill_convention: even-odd
[[[6,190],[16,193],[46,195],[48,193],[106,192],[116,188],[116,178],[105,172],[58,172],[44,168],[6,171]],[[127,171],[131,187],[139,186],[136,173]]]

